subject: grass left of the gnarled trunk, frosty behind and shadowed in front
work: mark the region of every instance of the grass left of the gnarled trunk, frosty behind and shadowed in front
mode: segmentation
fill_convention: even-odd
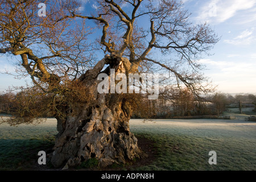
[[[55,134],[55,119],[37,126],[15,127],[3,123],[0,125],[0,170],[32,169],[40,157],[38,152],[53,147]]]

